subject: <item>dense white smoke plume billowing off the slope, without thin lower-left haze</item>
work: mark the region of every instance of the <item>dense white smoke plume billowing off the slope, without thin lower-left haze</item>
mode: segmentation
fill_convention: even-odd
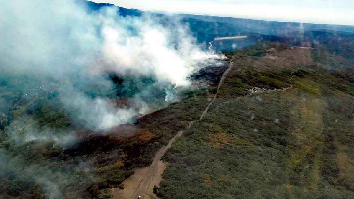
[[[104,96],[93,99],[73,85],[109,92],[104,73],[152,76],[172,101],[168,85],[189,85],[198,61],[211,57],[177,22],[166,27],[154,16],[122,17],[113,7],[87,12],[70,0],[21,0],[1,5],[0,13],[1,72],[56,79],[64,106],[77,110],[90,128],[126,123],[151,108],[137,100],[138,108],[112,109]]]

